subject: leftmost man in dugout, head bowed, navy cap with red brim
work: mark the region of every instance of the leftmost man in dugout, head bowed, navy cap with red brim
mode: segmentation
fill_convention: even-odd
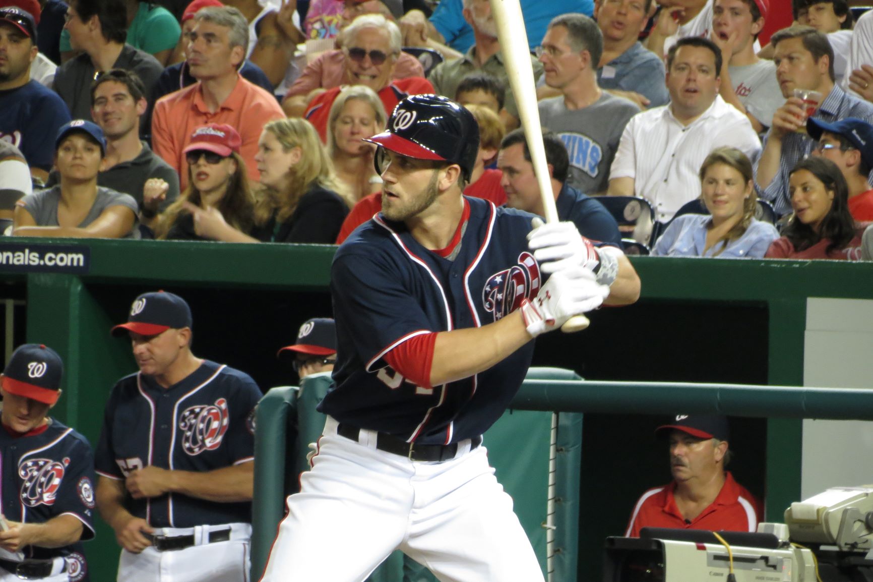
[[[93,453],[81,434],[47,416],[64,365],[51,348],[27,343],[3,371],[3,514],[0,582],[88,580],[80,540],[94,537]]]

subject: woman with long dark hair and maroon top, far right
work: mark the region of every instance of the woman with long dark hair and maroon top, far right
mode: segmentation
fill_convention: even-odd
[[[863,229],[849,213],[849,187],[837,165],[808,157],[791,170],[788,184],[794,217],[766,258],[858,260]]]

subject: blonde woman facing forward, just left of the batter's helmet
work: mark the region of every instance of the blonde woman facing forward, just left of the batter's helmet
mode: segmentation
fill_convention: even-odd
[[[346,87],[327,116],[327,152],[337,175],[351,192],[353,204],[382,191],[382,178],[373,165],[375,147],[364,142],[385,128],[388,115],[379,95],[363,85]]]

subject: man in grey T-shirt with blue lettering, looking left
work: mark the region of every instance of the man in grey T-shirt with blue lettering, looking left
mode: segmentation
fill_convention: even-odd
[[[589,195],[607,191],[609,166],[624,126],[640,112],[631,101],[598,87],[602,52],[603,37],[595,21],[574,13],[554,17],[537,49],[546,85],[561,93],[540,101],[540,123],[567,146],[567,184]]]

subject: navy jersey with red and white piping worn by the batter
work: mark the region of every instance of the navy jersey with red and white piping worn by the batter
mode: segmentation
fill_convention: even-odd
[[[533,341],[489,370],[430,389],[382,358],[420,334],[495,322],[539,291],[540,267],[526,239],[533,214],[464,199],[470,218],[453,260],[381,213],[340,246],[331,269],[335,387],[321,412],[424,444],[477,436],[503,414],[525,378]]]

